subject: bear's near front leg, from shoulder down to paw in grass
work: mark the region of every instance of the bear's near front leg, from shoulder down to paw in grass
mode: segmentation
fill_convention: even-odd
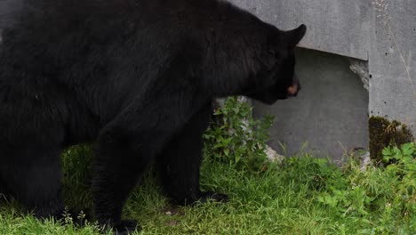
[[[95,216],[119,234],[136,229],[134,221],[124,221],[121,215],[148,163],[205,103],[165,90],[157,99],[135,101],[100,132],[92,176]]]

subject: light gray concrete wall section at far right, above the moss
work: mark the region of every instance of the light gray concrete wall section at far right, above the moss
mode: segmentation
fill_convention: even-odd
[[[385,3],[373,15],[370,113],[403,121],[416,134],[416,1]]]

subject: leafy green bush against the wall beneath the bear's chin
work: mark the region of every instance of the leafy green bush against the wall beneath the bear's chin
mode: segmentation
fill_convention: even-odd
[[[238,101],[237,97],[228,98],[220,109],[215,110],[214,117],[216,121],[204,134],[205,152],[209,158],[241,170],[262,170],[273,118],[254,120],[252,107]]]

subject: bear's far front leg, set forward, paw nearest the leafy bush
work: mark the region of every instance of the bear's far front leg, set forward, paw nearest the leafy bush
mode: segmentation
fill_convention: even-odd
[[[164,192],[178,205],[196,201],[226,201],[227,195],[199,189],[203,134],[212,115],[212,102],[199,109],[158,155],[157,164]]]

